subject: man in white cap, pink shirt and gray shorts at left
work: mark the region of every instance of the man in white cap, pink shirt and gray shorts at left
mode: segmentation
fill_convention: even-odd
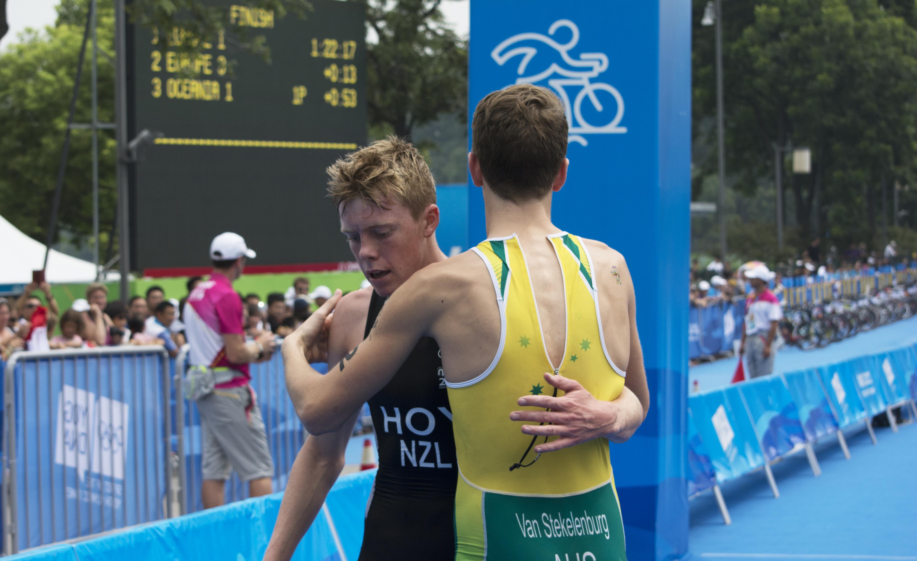
[[[235,469],[249,482],[249,496],[271,493],[273,462],[261,410],[249,386],[249,363],[269,360],[274,351],[268,332],[246,342],[242,300],[232,283],[255,252],[242,236],[224,232],[210,244],[214,270],[194,287],[184,307],[189,362],[213,370],[214,390],[197,400],[204,434],[201,495],[204,508],[224,503],[226,479]]]

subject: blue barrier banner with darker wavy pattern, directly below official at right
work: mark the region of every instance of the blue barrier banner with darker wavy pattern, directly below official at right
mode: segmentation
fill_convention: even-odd
[[[805,443],[799,410],[779,376],[750,380],[735,387],[744,398],[755,433],[768,460]]]

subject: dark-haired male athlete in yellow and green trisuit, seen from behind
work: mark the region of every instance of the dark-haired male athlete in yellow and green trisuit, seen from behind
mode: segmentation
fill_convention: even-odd
[[[323,433],[383,387],[420,338],[436,340],[458,459],[457,559],[625,558],[608,444],[581,442],[564,427],[589,399],[633,391],[646,415],[649,397],[624,258],[550,221],[551,193],[567,176],[567,135],[563,107],[544,88],[485,97],[469,166],[483,187],[489,239],[415,273],[328,376],[305,355],[337,295],[283,343],[297,413]],[[542,424],[520,434],[514,421]],[[632,432],[608,436],[622,442]],[[538,436],[547,442],[533,448]]]

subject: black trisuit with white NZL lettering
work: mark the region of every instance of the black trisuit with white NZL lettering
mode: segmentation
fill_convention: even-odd
[[[385,298],[372,293],[366,335],[384,303]],[[379,472],[361,561],[451,559],[455,553],[452,515],[458,467],[442,373],[439,347],[426,337],[392,381],[370,399]]]

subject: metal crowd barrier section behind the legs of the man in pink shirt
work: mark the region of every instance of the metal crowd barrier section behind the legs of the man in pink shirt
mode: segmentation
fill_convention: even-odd
[[[187,367],[188,350],[189,346],[184,345],[176,357],[172,387],[175,396],[176,440],[180,463],[179,501],[182,514],[204,510],[201,499],[204,445],[201,418],[197,405],[182,396],[182,376]],[[273,490],[282,491],[286,488],[296,454],[299,454],[300,448],[303,447],[306,433],[286,391],[283,360],[279,349],[270,361],[252,364],[249,368],[251,387],[255,390],[274,463]],[[248,485],[240,481],[233,472],[232,477],[226,482],[226,502],[248,498]]]

